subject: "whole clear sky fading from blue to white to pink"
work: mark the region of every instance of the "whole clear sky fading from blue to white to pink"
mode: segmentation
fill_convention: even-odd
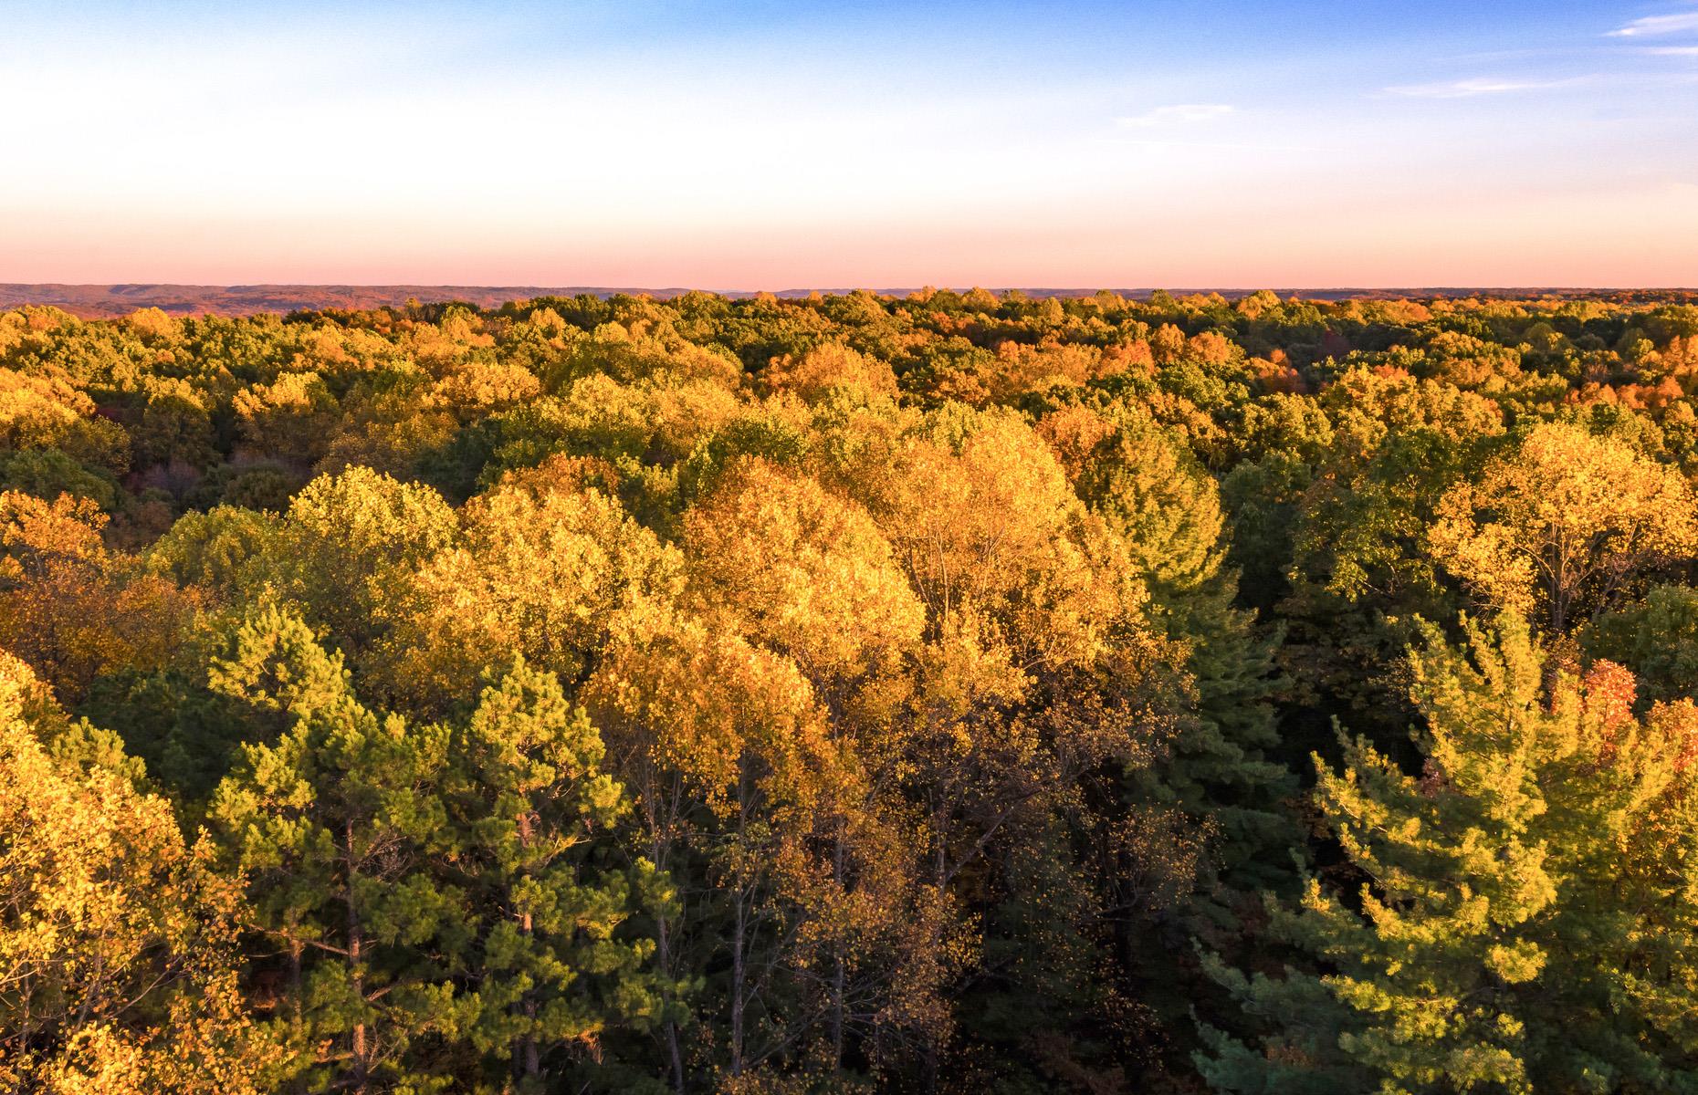
[[[1698,0],[0,0],[0,282],[1698,285]]]

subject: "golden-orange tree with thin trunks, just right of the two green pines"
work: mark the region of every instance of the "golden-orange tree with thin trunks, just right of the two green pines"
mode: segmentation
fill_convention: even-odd
[[[784,1030],[754,1030],[751,1014],[790,964],[767,951],[784,920],[781,886],[793,842],[813,828],[824,786],[839,781],[813,689],[795,662],[688,615],[630,621],[586,688],[608,744],[625,757],[655,866],[671,869],[688,842],[711,854],[728,905],[722,941],[730,964],[723,1017],[728,1068],[742,1076]],[[711,681],[711,686],[706,682]],[[703,801],[708,817],[691,818]],[[698,828],[710,830],[708,834]],[[659,924],[657,961],[671,974],[674,925]],[[764,957],[762,957],[764,956]],[[776,961],[774,961],[776,957]],[[678,1030],[664,1032],[676,1075]]]

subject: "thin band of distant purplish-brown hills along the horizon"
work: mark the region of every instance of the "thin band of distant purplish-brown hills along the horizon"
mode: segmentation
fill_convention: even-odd
[[[0,284],[0,309],[24,304],[51,304],[85,319],[127,316],[136,309],[156,307],[173,316],[253,316],[256,312],[292,312],[318,309],[368,309],[399,306],[408,300],[435,304],[465,300],[479,307],[498,307],[508,300],[533,297],[572,297],[593,294],[649,294],[676,297],[686,289],[642,289],[610,285],[59,285],[59,284]],[[778,290],[779,297],[805,297],[812,289]],[[822,289],[820,292],[849,292],[847,289]],[[880,292],[905,295],[914,289],[881,289]],[[1000,292],[1000,289],[997,290]],[[1083,297],[1095,289],[1020,289],[1032,297]],[[1124,297],[1144,299],[1155,289],[1116,289]],[[1248,289],[1170,289],[1173,295],[1194,292],[1219,292],[1241,297]],[[1622,302],[1698,302],[1695,289],[1550,289],[1550,287],[1409,287],[1409,289],[1275,289],[1282,297],[1297,295],[1314,300],[1389,300],[1433,297],[1603,297]],[[728,297],[751,297],[752,292],[723,292]]]

